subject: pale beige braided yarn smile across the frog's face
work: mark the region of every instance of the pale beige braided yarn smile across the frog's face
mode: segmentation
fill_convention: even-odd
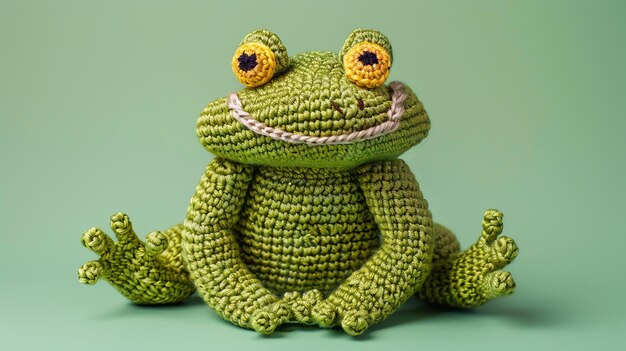
[[[232,93],[228,97],[228,108],[230,108],[233,118],[246,126],[246,128],[256,134],[265,135],[275,140],[284,141],[290,144],[306,144],[309,146],[351,144],[353,142],[374,139],[379,136],[392,133],[398,129],[400,126],[400,119],[404,114],[404,101],[407,98],[407,94],[404,91],[404,84],[400,82],[389,83],[389,88],[392,90],[391,107],[389,108],[389,111],[387,111],[389,119],[369,128],[340,135],[318,137],[291,133],[282,129],[270,127],[263,122],[255,120],[248,112],[246,112],[246,110],[244,110],[243,104],[241,103],[241,100],[239,100],[237,93]]]

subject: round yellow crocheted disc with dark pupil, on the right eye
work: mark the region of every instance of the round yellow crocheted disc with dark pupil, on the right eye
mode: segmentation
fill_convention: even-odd
[[[387,79],[391,58],[382,46],[364,41],[343,56],[343,67],[346,77],[356,85],[375,88]]]

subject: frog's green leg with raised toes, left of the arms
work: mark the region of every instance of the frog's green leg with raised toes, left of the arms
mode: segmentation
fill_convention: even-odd
[[[182,225],[165,232],[152,232],[146,241],[139,240],[130,219],[123,213],[111,216],[113,241],[102,230],[87,230],[81,241],[100,258],[78,270],[81,283],[108,281],[122,295],[138,304],[180,302],[194,291],[180,255]]]

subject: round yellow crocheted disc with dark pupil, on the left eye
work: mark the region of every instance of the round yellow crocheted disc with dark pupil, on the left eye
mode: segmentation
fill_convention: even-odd
[[[241,83],[251,88],[258,87],[272,79],[276,72],[276,58],[267,45],[245,43],[235,51],[232,66]]]

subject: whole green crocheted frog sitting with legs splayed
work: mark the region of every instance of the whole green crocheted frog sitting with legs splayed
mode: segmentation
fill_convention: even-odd
[[[514,289],[517,255],[488,210],[465,251],[434,223],[407,164],[430,122],[415,93],[385,84],[389,40],[357,29],[334,52],[288,56],[267,30],[248,34],[233,71],[243,90],[197,121],[207,166],[183,224],[145,241],[128,216],[82,243],[100,255],[79,279],[103,278],[138,304],[197,292],[224,319],[261,333],[287,322],[352,335],[412,295],[474,307]]]

